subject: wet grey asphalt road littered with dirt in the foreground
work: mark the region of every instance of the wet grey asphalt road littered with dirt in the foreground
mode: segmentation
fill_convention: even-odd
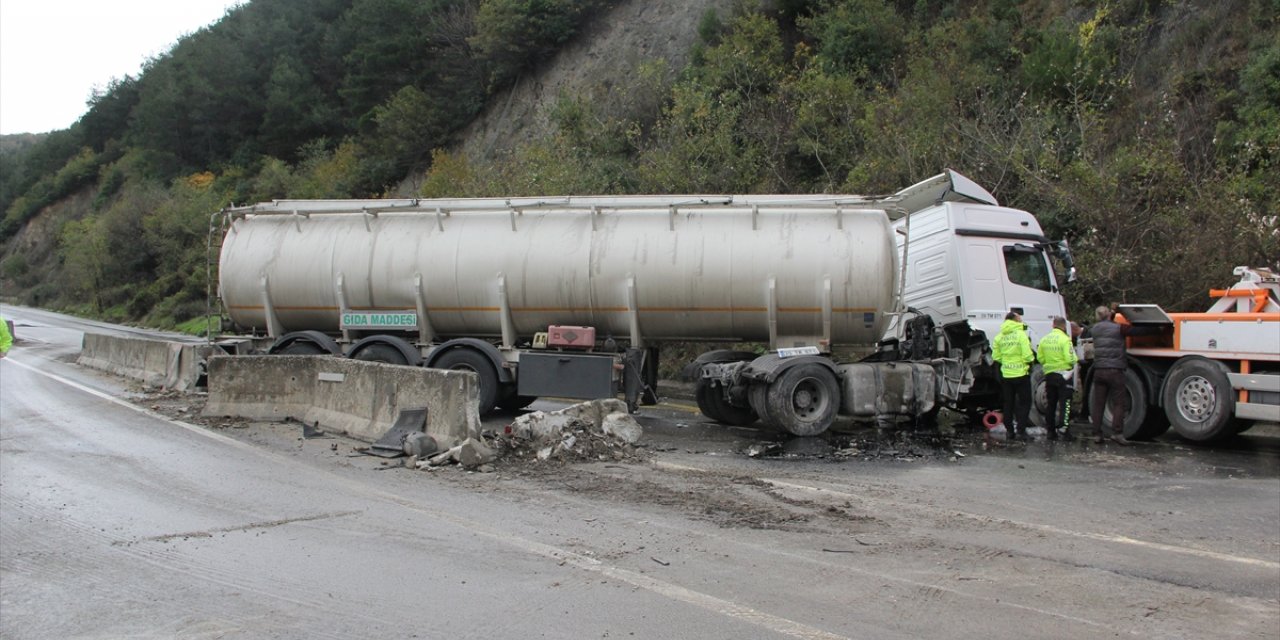
[[[774,442],[677,401],[643,460],[420,472],[166,419],[68,362],[74,320],[4,315],[3,637],[1280,634],[1268,433]]]

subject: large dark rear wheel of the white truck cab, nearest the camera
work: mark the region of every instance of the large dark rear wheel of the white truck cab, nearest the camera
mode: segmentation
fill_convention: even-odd
[[[777,426],[794,435],[818,435],[836,421],[840,383],[819,364],[796,365],[768,387],[765,404]]]

